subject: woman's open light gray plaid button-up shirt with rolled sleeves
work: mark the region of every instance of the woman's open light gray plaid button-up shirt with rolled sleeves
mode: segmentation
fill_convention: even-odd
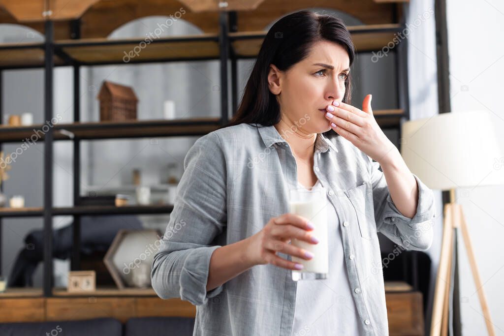
[[[394,205],[377,162],[341,136],[329,140],[319,134],[314,147],[313,171],[343,225],[346,273],[363,330],[388,335],[376,233],[405,249],[428,249],[432,191],[414,175],[418,207],[407,218]],[[197,305],[194,335],[291,335],[297,282],[290,270],[262,264],[209,292],[206,284],[212,252],[288,213],[288,190],[296,185],[295,159],[274,126],[224,127],[199,138],[187,152],[151,279],[161,298]]]

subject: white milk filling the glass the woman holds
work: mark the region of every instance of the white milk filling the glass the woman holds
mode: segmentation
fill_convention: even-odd
[[[319,239],[318,244],[311,244],[304,240],[292,239],[292,245],[303,248],[313,253],[310,260],[292,256],[292,261],[301,263],[304,267],[300,271],[329,274],[329,249],[327,239],[327,199],[318,201],[290,202],[290,213],[302,216],[313,223],[315,227],[308,231]]]

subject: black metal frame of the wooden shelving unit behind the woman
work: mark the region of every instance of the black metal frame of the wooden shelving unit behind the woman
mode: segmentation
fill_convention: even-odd
[[[247,58],[255,58],[255,57],[243,57],[239,56],[235,53],[231,42],[237,39],[254,39],[254,38],[264,38],[264,34],[249,35],[243,37],[235,37],[229,36],[230,32],[236,31],[236,13],[235,12],[221,12],[219,16],[219,35],[216,39],[215,37],[184,37],[184,38],[170,38],[170,39],[157,39],[151,43],[162,43],[162,42],[175,42],[175,41],[194,41],[194,40],[212,40],[218,41],[219,43],[219,60],[220,60],[220,79],[221,79],[221,117],[220,124],[225,125],[229,119],[229,106],[228,106],[228,60],[231,61],[231,99],[232,99],[232,111],[233,114],[237,109],[237,101],[238,101],[238,92],[237,92],[237,60],[238,59],[247,59]],[[404,22],[402,23],[404,25]],[[71,35],[72,38],[80,38],[80,20],[72,21],[72,29]],[[394,29],[395,30],[395,29]],[[362,30],[359,32],[365,33],[377,30]],[[383,31],[391,31],[390,28],[384,28]],[[20,49],[20,48],[33,48],[40,47],[43,48],[44,53],[44,70],[45,70],[45,80],[44,80],[44,117],[45,120],[51,120],[53,116],[53,69],[55,66],[73,66],[74,70],[74,121],[80,121],[80,68],[81,66],[92,66],[92,65],[105,65],[112,64],[113,62],[97,62],[97,63],[86,63],[79,62],[76,59],[70,57],[67,53],[64,52],[64,47],[74,46],[73,43],[55,43],[54,42],[54,23],[52,21],[45,22],[45,42],[41,44],[32,44],[29,46],[8,46],[3,47],[0,46],[0,49]],[[143,40],[131,40],[132,43],[139,43]],[[85,42],[79,45],[113,45],[113,44],[123,44],[123,41],[95,41],[95,42]],[[405,44],[405,43],[404,43]],[[401,43],[400,43],[401,45]],[[401,87],[400,90],[400,98],[398,104],[401,108],[404,109],[405,116],[409,118],[409,110],[408,110],[408,89],[407,89],[407,50],[404,47],[399,47],[392,49],[397,53],[398,59],[398,87]],[[359,51],[359,52],[369,52],[368,50]],[[64,61],[63,64],[54,64],[54,55],[58,56],[61,60]],[[208,58],[208,57],[187,57],[181,59],[147,59],[147,60],[137,60],[131,61],[129,64],[138,64],[138,63],[150,63],[150,62],[165,62],[165,61],[199,61],[199,60],[209,60],[209,59],[217,59],[217,58]],[[117,64],[117,63],[114,63]],[[12,69],[31,69],[31,68],[40,68],[37,65],[29,65],[29,66],[6,66],[4,68],[0,68],[0,120],[3,118],[2,111],[2,74],[3,70],[12,70]],[[396,116],[396,115],[394,115]],[[384,116],[387,117],[387,116]],[[194,124],[202,124],[202,121],[196,121]],[[153,122],[154,124],[159,124],[159,122]],[[176,122],[175,122],[176,124]],[[191,124],[185,122],[184,124]],[[101,124],[95,125],[80,125],[75,124],[71,125],[71,127],[67,127],[70,129],[79,129],[80,127],[87,127],[89,129],[99,129],[100,127],[105,127]],[[114,125],[108,125],[106,127],[114,127]],[[124,125],[117,125],[117,127],[124,127]],[[33,130],[34,127],[26,127],[26,130]],[[74,170],[74,192],[73,192],[73,204],[74,207],[68,208],[53,208],[52,206],[52,161],[53,161],[53,141],[54,141],[54,131],[58,129],[62,129],[55,125],[54,127],[49,127],[49,131],[46,132],[44,139],[44,207],[41,211],[32,211],[32,212],[10,212],[8,215],[0,215],[0,239],[2,237],[2,217],[29,217],[29,216],[43,216],[44,219],[44,277],[43,277],[43,295],[45,297],[52,296],[52,217],[60,216],[60,215],[73,215],[73,251],[71,258],[71,269],[78,270],[79,262],[80,262],[80,219],[83,215],[89,214],[101,214],[101,215],[115,215],[115,214],[165,214],[170,213],[173,209],[172,206],[164,206],[164,207],[121,207],[116,209],[111,209],[107,207],[94,207],[94,206],[80,206],[80,155],[81,155],[81,140],[78,137],[69,138],[69,140],[73,141],[74,144],[74,158],[73,158],[73,170]],[[3,130],[0,129],[0,132]],[[166,135],[165,135],[166,136]],[[128,137],[130,138],[130,137]],[[0,143],[0,148],[2,147],[2,143]],[[0,240],[1,243],[1,240]],[[1,244],[0,244],[0,271],[1,271]]]

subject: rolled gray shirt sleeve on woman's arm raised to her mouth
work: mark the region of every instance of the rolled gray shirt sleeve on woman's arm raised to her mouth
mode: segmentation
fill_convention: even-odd
[[[427,250],[433,241],[435,217],[434,195],[415,174],[418,185],[418,205],[413,218],[408,218],[397,209],[380,164],[369,158],[370,180],[373,193],[376,231],[409,250]]]

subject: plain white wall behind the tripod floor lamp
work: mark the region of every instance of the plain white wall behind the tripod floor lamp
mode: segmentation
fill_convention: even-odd
[[[496,128],[502,129],[504,3],[497,0],[448,0],[447,13],[452,111],[491,111]],[[504,144],[502,133],[499,141]],[[457,203],[464,210],[483,283],[482,289],[485,291],[497,335],[504,335],[503,194],[504,186],[476,187],[463,192],[457,190]],[[461,235],[459,258],[463,334],[487,334]]]

